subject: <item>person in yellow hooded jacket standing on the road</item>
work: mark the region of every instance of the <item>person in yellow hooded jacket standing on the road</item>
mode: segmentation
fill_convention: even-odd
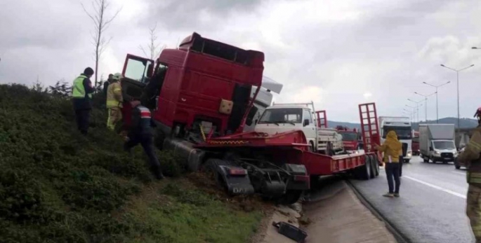
[[[388,177],[389,192],[385,197],[399,197],[400,180],[400,155],[402,154],[402,144],[397,140],[396,132],[389,131],[384,144],[376,144],[376,150],[384,153],[383,162],[386,165],[386,176]],[[393,185],[393,177],[395,185]]]

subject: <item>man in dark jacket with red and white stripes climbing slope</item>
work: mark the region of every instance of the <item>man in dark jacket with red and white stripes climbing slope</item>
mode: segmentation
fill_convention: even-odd
[[[160,169],[159,159],[154,151],[154,138],[152,127],[155,123],[152,120],[152,115],[147,107],[142,106],[137,99],[131,102],[132,106],[132,121],[127,134],[124,149],[130,153],[131,148],[140,144],[150,161],[150,170],[157,179],[164,179],[162,170]]]

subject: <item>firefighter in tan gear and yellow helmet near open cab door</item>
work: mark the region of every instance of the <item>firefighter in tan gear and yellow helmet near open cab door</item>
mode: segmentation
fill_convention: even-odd
[[[122,120],[121,108],[124,99],[122,97],[122,88],[120,85],[121,78],[123,78],[121,74],[114,74],[112,78],[112,83],[110,83],[107,88],[107,128],[112,131],[115,130],[115,124]]]

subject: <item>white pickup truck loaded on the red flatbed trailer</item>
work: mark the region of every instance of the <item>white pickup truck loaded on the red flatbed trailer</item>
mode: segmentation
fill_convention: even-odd
[[[311,145],[311,151],[326,154],[343,151],[342,136],[335,129],[317,127],[313,104],[273,104],[265,109],[259,120],[256,120],[255,132],[273,135],[292,130],[302,130]]]

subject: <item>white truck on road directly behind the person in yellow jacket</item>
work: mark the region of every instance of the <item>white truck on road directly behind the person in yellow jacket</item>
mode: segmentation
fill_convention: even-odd
[[[400,116],[380,116],[379,130],[381,132],[381,143],[386,140],[386,135],[389,131],[393,130],[396,132],[397,139],[407,144],[407,153],[406,156],[404,156],[404,162],[409,162],[412,158],[411,119]]]

